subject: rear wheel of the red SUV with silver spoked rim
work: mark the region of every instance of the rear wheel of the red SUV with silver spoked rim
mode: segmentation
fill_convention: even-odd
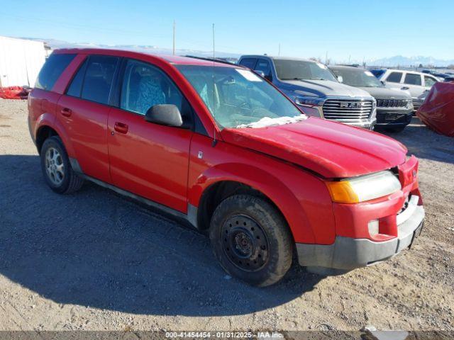
[[[56,152],[54,151],[56,150]],[[58,175],[56,171],[48,171],[48,163],[46,163],[46,157],[49,155],[59,155],[56,157],[57,164],[51,164],[50,166],[60,166]],[[74,193],[78,191],[84,184],[84,179],[77,176],[72,170],[70,159],[68,158],[65,146],[60,140],[60,137],[52,136],[44,141],[43,147],[41,147],[41,169],[43,170],[43,176],[48,183],[48,186],[56,193]],[[62,166],[61,166],[62,165]],[[53,173],[52,173],[53,172]],[[52,174],[51,174],[52,173]]]

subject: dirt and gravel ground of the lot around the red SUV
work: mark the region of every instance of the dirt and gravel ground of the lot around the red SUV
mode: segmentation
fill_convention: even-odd
[[[414,118],[390,134],[420,159],[426,224],[413,249],[269,288],[226,276],[209,240],[87,183],[45,185],[26,101],[0,99],[0,330],[454,330],[454,139]]]

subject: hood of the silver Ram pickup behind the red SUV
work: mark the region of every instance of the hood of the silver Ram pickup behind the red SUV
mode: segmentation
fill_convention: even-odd
[[[285,80],[285,84],[295,86],[294,91],[310,92],[317,96],[370,97],[366,91],[331,80]],[[304,96],[304,94],[301,94]]]

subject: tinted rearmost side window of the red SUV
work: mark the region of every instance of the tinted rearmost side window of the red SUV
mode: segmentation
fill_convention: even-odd
[[[50,91],[57,81],[60,74],[66,69],[66,67],[72,62],[76,55],[57,55],[53,53],[48,57],[43,68],[38,74],[38,79],[35,82],[36,89],[43,89]]]

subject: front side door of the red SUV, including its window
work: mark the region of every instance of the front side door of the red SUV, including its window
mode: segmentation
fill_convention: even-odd
[[[148,108],[175,104],[184,125],[192,112],[177,86],[152,64],[127,60],[120,108],[109,113],[111,179],[115,186],[181,212],[187,212],[190,128],[145,121]]]

